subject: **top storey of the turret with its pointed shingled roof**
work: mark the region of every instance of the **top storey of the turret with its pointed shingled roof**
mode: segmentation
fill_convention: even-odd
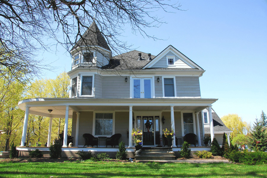
[[[111,50],[95,21],[71,49],[71,70],[81,67],[102,67],[109,63]]]

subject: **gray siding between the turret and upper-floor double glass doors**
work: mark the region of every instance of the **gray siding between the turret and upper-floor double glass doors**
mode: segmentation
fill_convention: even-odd
[[[104,76],[102,98],[130,98],[130,77],[125,82],[125,76]]]

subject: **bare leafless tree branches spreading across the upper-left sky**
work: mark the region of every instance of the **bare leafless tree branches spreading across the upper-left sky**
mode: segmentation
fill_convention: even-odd
[[[170,0],[0,0],[0,65],[20,79],[21,72],[29,77],[51,69],[36,59],[40,50],[60,44],[70,51],[93,20],[112,52],[120,54],[130,48],[117,38],[126,24],[133,33],[157,39],[145,28],[160,26],[157,14],[179,7]]]

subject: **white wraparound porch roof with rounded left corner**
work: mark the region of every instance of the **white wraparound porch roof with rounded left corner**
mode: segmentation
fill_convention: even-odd
[[[18,103],[22,110],[29,108],[29,114],[45,117],[64,118],[66,106],[69,106],[69,118],[72,112],[94,110],[122,110],[129,111],[168,111],[170,106],[174,110],[193,110],[200,112],[218,99],[214,98],[30,98]],[[48,109],[53,111],[50,113]]]

